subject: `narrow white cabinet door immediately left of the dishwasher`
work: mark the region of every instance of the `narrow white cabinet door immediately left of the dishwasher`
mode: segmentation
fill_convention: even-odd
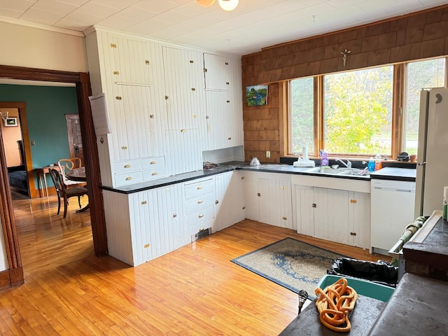
[[[349,245],[370,248],[370,194],[349,192]]]

